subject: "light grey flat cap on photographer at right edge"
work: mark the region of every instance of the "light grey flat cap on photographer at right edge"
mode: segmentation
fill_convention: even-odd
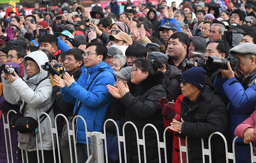
[[[256,55],[256,44],[253,43],[244,43],[244,44],[240,44],[238,46],[233,47],[232,49],[229,50],[230,54],[242,54],[242,55],[246,55],[246,54],[254,54]]]

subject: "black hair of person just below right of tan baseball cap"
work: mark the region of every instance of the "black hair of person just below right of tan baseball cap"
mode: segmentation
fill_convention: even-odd
[[[146,58],[147,49],[141,43],[135,43],[128,46],[125,56],[135,56],[136,58]]]

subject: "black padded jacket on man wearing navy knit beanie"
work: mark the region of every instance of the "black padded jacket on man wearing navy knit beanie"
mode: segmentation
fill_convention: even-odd
[[[175,134],[181,138],[188,136],[190,163],[202,163],[201,138],[204,139],[204,147],[208,148],[208,137],[213,132],[221,132],[231,145],[227,108],[212,85],[207,84],[195,102],[187,97],[183,98],[180,118],[184,120],[181,134]],[[213,163],[226,162],[225,145],[221,136],[212,136],[211,152]],[[205,157],[205,162],[209,162],[209,157]]]

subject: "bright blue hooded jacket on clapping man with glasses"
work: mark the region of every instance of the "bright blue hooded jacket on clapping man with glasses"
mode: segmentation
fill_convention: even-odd
[[[82,67],[82,74],[77,82],[73,82],[69,87],[65,86],[60,89],[61,95],[65,101],[75,104],[73,114],[76,111],[79,101],[82,106],[78,115],[81,115],[87,125],[89,132],[103,132],[103,120],[111,102],[111,94],[106,85],[113,85],[115,82],[113,69],[105,62],[86,68]],[[101,72],[91,84],[89,90],[87,87],[94,77]],[[86,144],[85,127],[81,118],[77,118],[77,143]],[[90,139],[89,139],[90,144]]]

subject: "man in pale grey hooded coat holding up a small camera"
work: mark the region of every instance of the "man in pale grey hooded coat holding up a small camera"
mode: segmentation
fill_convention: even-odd
[[[52,125],[54,125],[54,113],[51,109],[55,98],[53,97],[53,87],[50,79],[47,79],[47,71],[41,68],[45,62],[48,62],[46,54],[42,51],[34,51],[24,57],[25,76],[24,80],[19,78],[16,72],[13,74],[4,74],[3,77],[3,94],[5,100],[11,104],[20,104],[20,110],[25,105],[24,117],[33,117],[38,119],[38,116],[42,112],[49,112]],[[8,68],[9,66],[5,66]],[[27,112],[27,113],[26,113]],[[51,128],[48,119],[42,121],[41,133],[42,133],[42,146],[38,139],[38,148],[44,152],[45,162],[53,162],[53,141],[56,144],[56,137],[52,140]],[[39,130],[38,130],[39,131]],[[39,138],[39,132],[36,133]],[[18,140],[19,148],[22,145],[28,144],[22,140],[26,140],[29,135],[27,133],[19,133]],[[29,136],[30,137],[30,136]],[[37,140],[35,140],[37,141]],[[30,140],[30,143],[33,142]],[[37,149],[35,148],[35,142],[32,143],[31,148],[28,149],[29,162],[38,162]],[[23,146],[24,147],[24,146]],[[39,151],[41,155],[41,151]],[[42,156],[40,156],[42,159]],[[40,160],[41,160],[40,159]],[[41,162],[41,161],[40,161]]]

